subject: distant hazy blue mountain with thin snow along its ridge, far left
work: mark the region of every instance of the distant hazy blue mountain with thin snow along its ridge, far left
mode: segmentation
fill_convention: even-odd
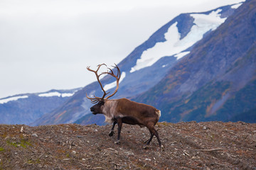
[[[78,90],[51,90],[0,98],[0,124],[29,125],[43,114],[64,104]]]

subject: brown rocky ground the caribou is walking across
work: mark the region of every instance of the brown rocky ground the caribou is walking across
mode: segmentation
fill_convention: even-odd
[[[159,123],[165,150],[149,131],[123,125],[0,125],[0,169],[256,169],[256,124]],[[117,128],[115,129],[117,131]]]

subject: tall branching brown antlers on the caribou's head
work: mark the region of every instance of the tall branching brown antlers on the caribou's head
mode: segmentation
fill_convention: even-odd
[[[87,97],[88,99],[90,99],[92,103],[97,103],[97,102],[100,101],[100,100],[104,100],[104,99],[107,99],[107,98],[110,98],[110,97],[114,96],[114,94],[117,93],[117,90],[118,90],[118,88],[119,88],[119,79],[120,79],[120,77],[121,77],[121,74],[120,74],[120,69],[119,69],[119,67],[117,67],[117,64],[114,64],[115,66],[112,66],[112,67],[114,67],[114,68],[117,69],[117,75],[115,75],[114,72],[113,72],[113,70],[110,69],[110,68],[107,68],[107,69],[110,70],[110,72],[102,72],[101,74],[97,74],[97,72],[99,71],[99,69],[100,69],[100,67],[101,67],[102,65],[105,65],[105,66],[107,67],[106,64],[99,64],[99,65],[97,65],[97,69],[96,69],[96,70],[92,70],[92,69],[90,69],[90,67],[87,67],[87,70],[89,70],[90,72],[94,72],[94,73],[95,73],[95,75],[96,75],[96,77],[97,77],[97,81],[99,82],[100,87],[101,87],[101,89],[102,89],[102,91],[103,91],[103,93],[104,93],[103,96],[102,96],[102,98],[96,97],[96,96],[94,96],[95,98],[90,98],[90,97],[88,97],[87,94],[86,94],[86,97]],[[114,77],[114,78],[117,79],[117,88],[115,89],[114,93],[111,94],[110,96],[107,96],[107,98],[105,98],[105,96],[106,96],[107,94],[109,94],[110,92],[106,93],[106,91],[103,89],[102,83],[100,82],[100,76],[101,76],[102,74],[110,74],[112,77]]]

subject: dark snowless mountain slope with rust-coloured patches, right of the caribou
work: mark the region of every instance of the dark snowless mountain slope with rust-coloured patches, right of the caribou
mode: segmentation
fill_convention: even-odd
[[[246,1],[134,100],[160,108],[161,120],[171,122],[228,121],[255,108],[255,6],[256,1]]]

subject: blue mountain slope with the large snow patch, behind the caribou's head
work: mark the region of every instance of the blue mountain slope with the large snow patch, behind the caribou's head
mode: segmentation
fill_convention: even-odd
[[[133,98],[154,87],[164,79],[169,69],[188,55],[198,40],[218,28],[234,11],[235,6],[224,6],[204,13],[183,13],[166,23],[118,64],[122,71],[122,82],[114,98]],[[114,79],[104,77],[101,81],[107,87]],[[108,91],[113,89],[114,86],[111,86]],[[65,106],[43,115],[33,125],[73,123],[76,120],[78,123],[92,123],[91,115],[87,115],[92,103],[85,97],[86,93],[89,96],[102,96],[97,82],[89,84],[70,98]],[[97,123],[103,120],[99,117]]]

